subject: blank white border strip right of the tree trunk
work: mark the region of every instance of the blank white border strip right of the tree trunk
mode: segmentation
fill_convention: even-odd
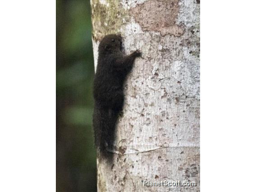
[[[201,191],[255,189],[256,3],[201,0]]]

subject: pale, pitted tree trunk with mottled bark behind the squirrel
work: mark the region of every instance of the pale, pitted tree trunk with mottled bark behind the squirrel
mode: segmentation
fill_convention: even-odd
[[[126,54],[142,51],[124,83],[114,162],[97,161],[98,191],[199,191],[200,0],[91,0],[91,9],[95,68],[107,34],[122,35]]]

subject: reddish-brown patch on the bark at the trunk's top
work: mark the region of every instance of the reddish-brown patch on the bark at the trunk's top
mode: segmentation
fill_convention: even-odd
[[[179,0],[150,0],[131,8],[129,13],[141,25],[143,31],[156,31],[162,36],[169,34],[180,37],[184,33],[184,27],[176,24],[178,3]]]

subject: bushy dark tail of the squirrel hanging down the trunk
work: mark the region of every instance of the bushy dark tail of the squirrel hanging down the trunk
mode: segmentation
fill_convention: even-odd
[[[100,160],[112,160],[113,158],[114,131],[117,119],[118,112],[95,105],[93,129],[97,156]]]

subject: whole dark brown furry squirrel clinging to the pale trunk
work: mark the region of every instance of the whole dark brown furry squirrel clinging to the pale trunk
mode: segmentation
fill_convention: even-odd
[[[124,55],[121,46],[122,38],[113,34],[105,36],[99,45],[93,86],[93,128],[100,159],[112,157],[115,124],[123,110],[123,82],[133,68],[134,59],[141,56],[138,50]]]

